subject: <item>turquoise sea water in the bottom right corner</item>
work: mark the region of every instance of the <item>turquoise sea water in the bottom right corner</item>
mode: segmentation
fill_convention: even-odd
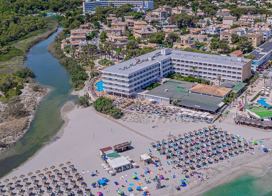
[[[250,171],[249,171],[250,172]],[[201,196],[271,196],[272,195],[272,171],[264,172],[261,177],[244,174],[231,182],[212,188]]]

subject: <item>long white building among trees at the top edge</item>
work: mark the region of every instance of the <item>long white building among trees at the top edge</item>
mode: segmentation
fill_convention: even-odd
[[[96,0],[96,1],[91,1],[91,0],[86,0],[83,2],[83,11],[88,12],[88,11],[94,11],[96,9],[96,6],[101,6],[101,7],[108,7],[110,4],[113,4],[117,8],[120,8],[121,5],[126,5],[126,4],[133,4],[135,8],[143,8],[145,10],[153,9],[153,3],[154,1],[141,1],[141,0],[121,0],[121,1],[116,1],[116,0]]]

